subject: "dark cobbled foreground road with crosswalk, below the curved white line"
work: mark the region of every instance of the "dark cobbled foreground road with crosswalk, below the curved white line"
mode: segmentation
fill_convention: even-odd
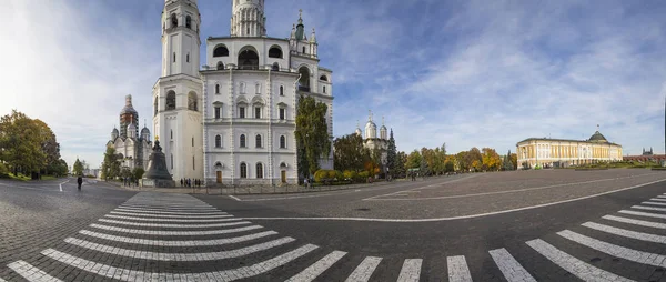
[[[663,182],[434,223],[246,220],[249,211],[275,210],[93,183],[81,193],[52,183],[2,184],[0,279],[7,281],[666,279]]]

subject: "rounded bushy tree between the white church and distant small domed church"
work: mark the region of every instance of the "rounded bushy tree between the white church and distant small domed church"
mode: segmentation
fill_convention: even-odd
[[[365,162],[370,160],[370,150],[363,145],[363,138],[349,134],[335,139],[333,142],[333,160],[335,170],[360,172]]]

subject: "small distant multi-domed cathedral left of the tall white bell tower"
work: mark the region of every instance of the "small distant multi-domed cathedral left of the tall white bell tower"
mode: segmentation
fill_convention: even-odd
[[[125,97],[125,107],[120,111],[120,131],[111,131],[111,140],[107,147],[115,149],[122,161],[121,167],[133,170],[142,168],[148,170],[148,159],[151,152],[150,130],[143,127],[139,134],[139,113],[132,107],[132,95]]]

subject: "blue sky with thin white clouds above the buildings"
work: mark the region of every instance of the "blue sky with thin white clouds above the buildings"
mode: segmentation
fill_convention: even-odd
[[[163,4],[0,1],[0,114],[43,120],[70,165],[99,167],[127,94],[140,125],[150,119]],[[199,9],[203,54],[208,37],[230,34],[231,0]],[[664,1],[266,0],[268,34],[287,38],[299,9],[333,70],[335,137],[372,110],[407,152],[505,153],[599,124],[625,154],[664,153]]]

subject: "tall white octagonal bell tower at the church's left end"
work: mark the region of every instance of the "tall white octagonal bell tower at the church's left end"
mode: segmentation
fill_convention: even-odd
[[[152,91],[153,132],[173,180],[202,179],[203,82],[199,73],[201,16],[196,0],[165,0],[160,26],[162,77]]]

